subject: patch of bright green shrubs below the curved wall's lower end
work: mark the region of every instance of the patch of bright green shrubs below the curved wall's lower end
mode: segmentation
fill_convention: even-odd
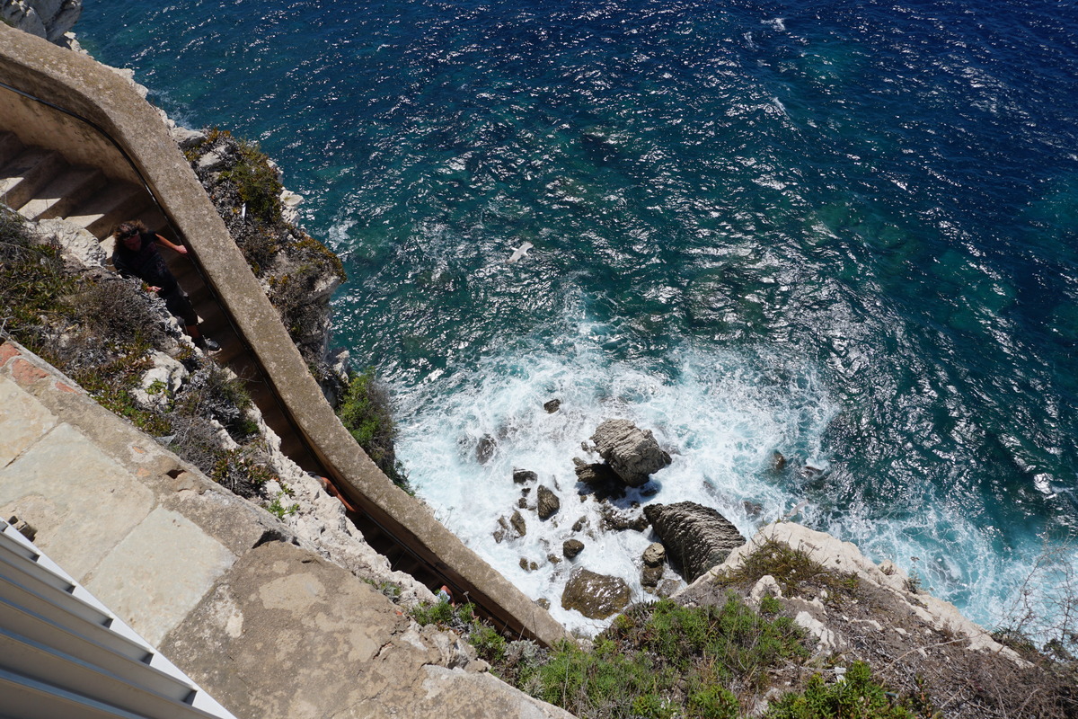
[[[738,696],[748,702],[776,667],[807,658],[804,640],[789,618],[763,617],[734,595],[703,607],[663,599],[617,618],[592,651],[566,642],[545,662],[495,669],[580,717],[734,719]]]

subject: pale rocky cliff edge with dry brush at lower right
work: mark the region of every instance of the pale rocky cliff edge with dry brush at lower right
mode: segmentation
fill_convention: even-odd
[[[811,635],[810,665],[825,667],[827,680],[867,662],[887,686],[930,697],[940,710],[917,716],[1072,717],[1078,709],[1073,662],[1047,661],[1032,646],[1020,654],[898,566],[876,565],[825,533],[769,525],[672,599],[715,605],[729,592],[757,607],[764,597],[778,599]]]

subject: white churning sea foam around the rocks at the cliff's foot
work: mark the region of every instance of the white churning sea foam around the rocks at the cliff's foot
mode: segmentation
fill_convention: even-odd
[[[775,386],[736,356],[687,348],[673,369],[660,372],[610,360],[600,343],[602,331],[581,326],[563,351],[488,357],[474,370],[456,373],[450,391],[440,381],[405,392],[398,441],[412,482],[439,518],[526,594],[549,599],[555,618],[583,630],[600,623],[561,607],[572,567],[621,577],[636,599],[646,598],[640,555],[654,541],[650,531],[604,534],[599,504],[578,494],[572,457],[598,461],[581,442],[600,421],[632,419],[652,430],[674,457],[653,476],[657,495],[631,490],[616,507],[635,513],[634,501],[693,500],[718,509],[749,535],[798,499],[766,480],[772,453],[780,448],[826,465],[818,456],[819,435],[834,412],[810,371]],[[548,414],[542,404],[554,398],[562,400],[561,409]],[[494,438],[496,448],[481,464],[476,445],[484,437]],[[527,534],[497,543],[492,535],[498,518],[508,520],[522,496],[512,481],[514,468],[537,472],[539,483],[558,495],[561,511],[540,522],[534,509],[519,510]],[[526,497],[530,508],[535,498],[533,488]],[[754,506],[762,511],[756,514]],[[581,517],[586,528],[575,533]],[[573,562],[548,561],[561,558],[563,542],[573,537],[585,544]],[[538,569],[523,569],[522,557]]]

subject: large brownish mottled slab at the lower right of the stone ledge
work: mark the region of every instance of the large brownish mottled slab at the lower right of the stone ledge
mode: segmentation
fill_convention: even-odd
[[[225,706],[246,699],[240,717],[569,716],[438,666],[410,624],[344,569],[273,542],[239,559],[162,650]]]

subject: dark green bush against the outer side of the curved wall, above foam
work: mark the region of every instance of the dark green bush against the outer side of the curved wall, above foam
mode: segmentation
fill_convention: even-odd
[[[372,461],[393,481],[393,484],[412,494],[407,476],[397,461],[393,440],[397,427],[389,413],[389,397],[374,376],[374,369],[354,374],[337,416],[359,446]]]

